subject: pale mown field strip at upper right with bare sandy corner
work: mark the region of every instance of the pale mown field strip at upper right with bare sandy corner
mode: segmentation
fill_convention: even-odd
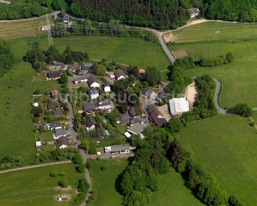
[[[171,32],[175,42],[255,39],[256,23],[203,22]]]

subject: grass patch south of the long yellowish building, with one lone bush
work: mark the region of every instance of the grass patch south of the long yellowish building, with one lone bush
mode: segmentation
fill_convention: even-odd
[[[123,196],[119,193],[121,176],[120,174],[128,165],[126,158],[119,159],[100,159],[92,160],[93,167],[91,169],[92,187],[97,189],[96,200],[91,203],[91,206],[119,206],[122,203]],[[102,171],[101,167],[107,164],[109,168]]]

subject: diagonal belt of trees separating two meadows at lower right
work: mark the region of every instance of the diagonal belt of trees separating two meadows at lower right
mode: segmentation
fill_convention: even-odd
[[[183,147],[178,139],[174,139],[170,148],[169,155],[173,167],[185,176],[187,186],[194,190],[203,202],[215,206],[244,205],[235,194],[229,197],[227,193],[220,188],[213,174],[208,174],[203,166],[196,163],[191,157],[192,151],[190,151],[188,147]]]

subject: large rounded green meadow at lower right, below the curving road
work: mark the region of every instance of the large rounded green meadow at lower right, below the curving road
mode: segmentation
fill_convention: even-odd
[[[236,193],[245,205],[257,202],[257,130],[250,122],[237,115],[219,115],[190,123],[180,137],[221,188],[228,195]]]

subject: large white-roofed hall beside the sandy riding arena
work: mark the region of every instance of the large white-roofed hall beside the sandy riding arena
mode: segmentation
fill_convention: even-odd
[[[172,116],[189,111],[189,104],[185,98],[172,98],[169,100],[169,104]]]

